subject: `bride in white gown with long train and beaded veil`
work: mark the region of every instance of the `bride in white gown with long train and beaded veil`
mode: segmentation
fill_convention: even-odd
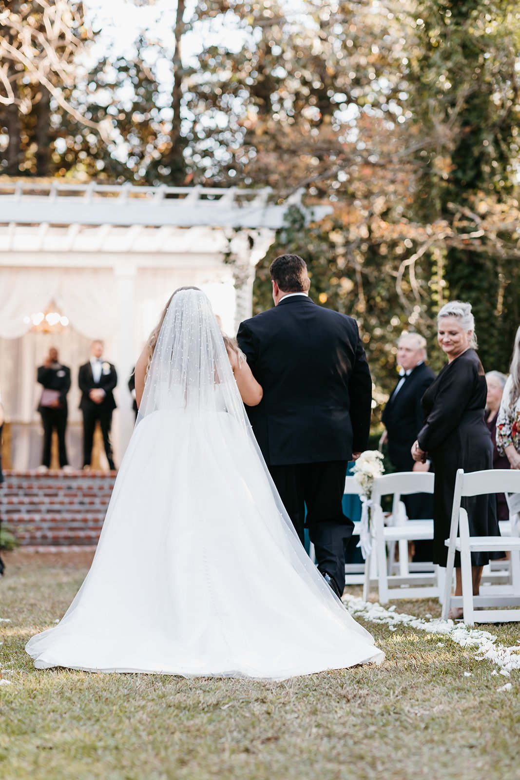
[[[136,395],[90,572],[27,643],[34,665],[285,679],[383,661],[293,530],[242,403],[262,389],[199,289],[168,301]]]

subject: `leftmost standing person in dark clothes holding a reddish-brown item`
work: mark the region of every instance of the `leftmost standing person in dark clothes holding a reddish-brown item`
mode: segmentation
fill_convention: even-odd
[[[39,471],[47,471],[51,466],[52,431],[58,434],[58,455],[60,468],[69,466],[65,445],[67,429],[67,393],[70,389],[70,369],[58,359],[58,350],[49,349],[43,366],[37,370],[37,381],[43,385],[38,412],[44,427],[44,449]]]

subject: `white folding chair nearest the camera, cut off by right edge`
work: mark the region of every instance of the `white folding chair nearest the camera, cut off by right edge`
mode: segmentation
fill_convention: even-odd
[[[518,515],[511,516],[510,536],[478,537],[470,536],[468,513],[461,506],[462,498],[486,495],[490,493],[520,493],[520,472],[508,470],[473,471],[464,473],[459,469],[455,478],[455,496],[451,512],[450,538],[447,545],[446,582],[442,617],[447,619],[451,607],[462,607],[464,622],[496,623],[520,621],[520,536]],[[504,585],[487,585],[482,595],[473,596],[472,552],[510,551],[511,585],[508,595],[504,594]],[[451,596],[451,583],[455,565],[455,552],[461,555],[462,596]],[[483,609],[476,607],[511,607],[517,609]]]

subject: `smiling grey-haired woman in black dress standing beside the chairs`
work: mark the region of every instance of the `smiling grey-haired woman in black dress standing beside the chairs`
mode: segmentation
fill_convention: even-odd
[[[493,445],[484,420],[486,376],[475,352],[475,324],[471,304],[453,301],[439,312],[437,339],[447,356],[447,365],[423,395],[425,424],[412,446],[416,461],[428,457],[435,467],[433,493],[433,562],[446,566],[451,508],[458,469],[482,471],[493,468]],[[500,536],[494,495],[462,499],[468,512],[471,534]],[[472,552],[473,593],[479,594],[482,567],[502,553]],[[455,556],[456,590],[462,595],[460,555]],[[462,617],[452,609],[451,618]]]

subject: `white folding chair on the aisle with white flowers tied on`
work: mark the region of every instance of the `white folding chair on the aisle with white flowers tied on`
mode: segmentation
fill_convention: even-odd
[[[433,493],[435,475],[430,472],[406,471],[384,474],[375,481],[372,491],[372,516],[370,538],[372,550],[365,561],[363,599],[368,599],[370,583],[375,579],[380,604],[387,604],[390,598],[439,597],[442,588],[442,573],[438,566],[432,571],[411,572],[408,564],[408,543],[414,540],[433,539],[433,519],[409,519],[403,511],[401,495]],[[388,524],[384,523],[381,499],[392,495],[392,512]],[[399,545],[399,573],[389,573],[387,545]],[[373,576],[373,559],[376,560],[377,576]],[[432,565],[433,566],[433,565]],[[427,568],[427,567],[426,567]]]

